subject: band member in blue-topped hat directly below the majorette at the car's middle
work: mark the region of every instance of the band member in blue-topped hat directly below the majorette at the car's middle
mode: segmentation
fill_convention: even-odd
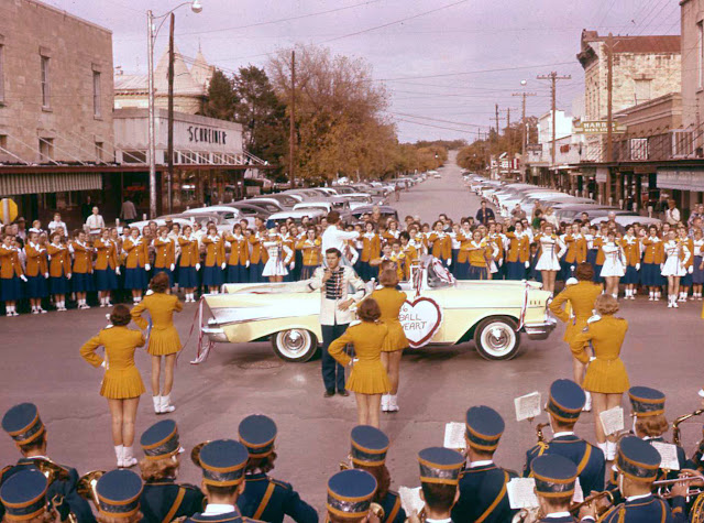
[[[364,470],[376,480],[374,501],[384,510],[380,523],[404,523],[406,511],[400,505],[400,497],[389,490],[392,478],[386,468],[386,453],[389,440],[386,434],[369,425],[358,425],[350,434],[352,446],[350,460],[355,469]]]

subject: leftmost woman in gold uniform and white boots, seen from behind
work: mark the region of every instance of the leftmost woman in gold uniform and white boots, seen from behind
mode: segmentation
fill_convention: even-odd
[[[116,305],[110,314],[110,325],[80,348],[80,356],[94,367],[105,367],[100,395],[108,400],[112,417],[112,442],[118,467],[133,467],[134,420],[140,396],[145,392],[140,371],[134,366],[134,351],[144,347],[144,336],[128,328],[130,309]],[[106,348],[106,359],[96,353]]]

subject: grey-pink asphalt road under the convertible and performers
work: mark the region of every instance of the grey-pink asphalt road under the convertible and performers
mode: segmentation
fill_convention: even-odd
[[[402,194],[394,204],[399,216],[419,214],[424,221],[439,213],[451,218],[476,213],[479,198],[462,185],[454,165],[441,170],[441,179],[429,179]],[[670,418],[698,407],[696,391],[704,385],[702,366],[704,322],[701,303],[668,309],[663,302],[640,297],[622,302],[619,313],[630,325],[623,358],[631,384],[651,385],[668,394]],[[182,340],[188,338],[195,305],[178,316]],[[15,403],[35,402],[48,427],[50,456],[79,472],[110,469],[114,456],[107,402],[98,394],[101,371],[84,362],[80,346],[106,325],[106,310],[70,310],[42,316],[0,318],[0,413]],[[515,422],[514,397],[543,393],[557,378],[571,378],[571,357],[559,326],[544,341],[522,339],[512,361],[490,362],[473,344],[407,351],[402,364],[400,412],[385,414],[382,428],[392,439],[388,467],[393,484],[417,486],[418,450],[442,445],[447,422],[462,422],[472,405],[497,408],[507,422],[496,460],[521,469],[526,449],[536,442],[528,422]],[[354,397],[322,397],[320,363],[284,363],[268,344],[220,345],[207,362],[189,364],[195,355],[191,339],[179,360],[173,401],[177,410],[182,445],[190,448],[206,439],[237,438],[244,416],[265,413],[278,425],[278,460],[274,477],[294,487],[319,510],[324,506],[327,478],[349,451],[349,433],[355,424]],[[144,352],[138,366],[148,389],[150,364]],[[624,407],[629,411],[627,399]],[[148,394],[142,396],[139,434],[157,417]],[[683,425],[690,450],[701,436],[704,420]],[[584,414],[578,433],[593,440],[593,416]],[[4,438],[4,439],[2,439]],[[141,455],[139,449],[135,449]],[[184,455],[180,479],[199,482],[199,470]],[[16,459],[14,445],[0,436],[0,465]]]

